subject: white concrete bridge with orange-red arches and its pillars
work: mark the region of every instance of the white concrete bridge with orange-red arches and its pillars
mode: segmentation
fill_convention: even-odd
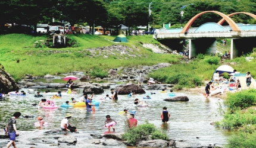
[[[196,18],[206,13],[218,14],[222,19],[217,23],[207,22],[199,27],[191,27]],[[252,48],[256,47],[256,25],[246,25],[234,22],[230,17],[235,14],[246,14],[256,20],[256,15],[249,12],[235,12],[226,15],[218,11],[204,11],[191,18],[184,28],[161,28],[160,30],[155,31],[153,37],[157,40],[188,39],[189,58],[195,57],[198,53],[216,53],[216,38],[230,38],[230,52],[231,59],[233,59],[241,54],[252,52]],[[223,26],[222,24],[224,21],[227,21],[229,25]],[[174,41],[174,43],[177,42]]]

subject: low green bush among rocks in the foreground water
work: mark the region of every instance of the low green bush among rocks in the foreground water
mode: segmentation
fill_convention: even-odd
[[[145,121],[145,124],[127,129],[123,134],[123,139],[127,140],[127,143],[129,144],[135,145],[149,135],[152,135],[152,139],[168,139],[167,134],[164,131],[158,130],[154,124],[148,123],[148,121]]]

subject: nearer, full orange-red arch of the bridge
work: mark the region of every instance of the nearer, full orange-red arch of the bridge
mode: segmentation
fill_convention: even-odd
[[[223,13],[218,12],[218,11],[204,11],[204,12],[201,12],[199,14],[196,14],[193,18],[191,18],[191,20],[188,21],[188,23],[185,25],[185,27],[183,28],[183,30],[180,33],[185,33],[186,31],[188,31],[189,27],[191,27],[191,25],[196,20],[196,18],[200,17],[202,14],[206,14],[206,13],[209,13],[209,12],[213,12],[213,13],[218,14],[221,17],[223,17],[223,19],[227,21],[227,23],[230,25],[230,27],[232,28],[233,31],[239,31],[239,32],[241,31],[240,28],[238,27],[238,25],[230,17],[228,17],[226,14],[223,14]]]

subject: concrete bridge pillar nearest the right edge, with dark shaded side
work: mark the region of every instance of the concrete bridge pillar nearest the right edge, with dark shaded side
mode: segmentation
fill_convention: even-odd
[[[230,59],[251,53],[256,47],[256,38],[231,38]]]

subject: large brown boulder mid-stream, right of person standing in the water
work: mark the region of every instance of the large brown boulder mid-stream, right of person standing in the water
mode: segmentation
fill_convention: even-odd
[[[126,83],[123,85],[117,86],[115,91],[118,92],[120,95],[130,94],[131,92],[135,92],[135,94],[145,94],[146,92],[138,85],[133,83]]]

